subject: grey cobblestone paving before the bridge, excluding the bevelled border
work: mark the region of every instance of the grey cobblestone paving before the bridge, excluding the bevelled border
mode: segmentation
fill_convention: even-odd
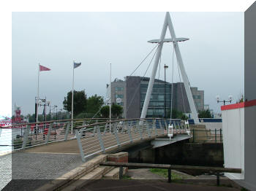
[[[82,164],[80,155],[16,152],[12,179],[54,179]]]

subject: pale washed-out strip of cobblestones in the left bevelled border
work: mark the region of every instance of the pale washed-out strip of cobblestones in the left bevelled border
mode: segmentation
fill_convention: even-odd
[[[12,155],[0,156],[0,190],[12,179]]]

